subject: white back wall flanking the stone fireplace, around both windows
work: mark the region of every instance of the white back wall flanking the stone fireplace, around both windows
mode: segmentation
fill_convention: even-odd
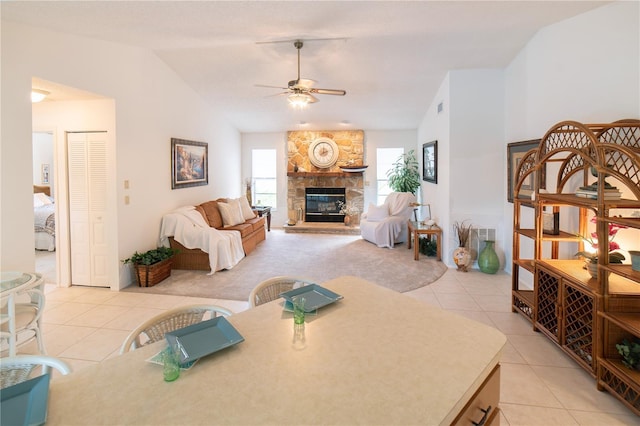
[[[369,167],[364,172],[365,210],[376,203],[376,149],[402,147],[405,152],[416,149],[414,130],[365,130],[364,161]],[[278,176],[278,206],[272,210],[271,227],[281,228],[287,222],[287,133],[242,134],[242,180],[251,176],[251,150],[276,149]],[[421,151],[420,151],[421,152]],[[418,153],[418,157],[420,157]],[[368,185],[367,185],[368,183]]]

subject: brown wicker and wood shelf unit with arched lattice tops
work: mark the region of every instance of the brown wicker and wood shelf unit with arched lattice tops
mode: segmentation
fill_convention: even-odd
[[[624,190],[625,198],[605,198],[606,178]],[[596,198],[574,194],[593,179]],[[555,188],[542,188],[545,181]],[[521,195],[525,182],[534,183],[532,197]],[[533,223],[523,223],[523,207],[533,208],[533,219],[528,218]],[[639,209],[640,120],[558,123],[537,149],[522,157],[514,176],[512,311],[529,319],[534,330],[594,376],[599,390],[640,416],[640,371],[626,368],[615,347],[623,339],[640,339],[640,272],[629,264],[609,264],[607,244],[598,249],[597,278],[584,268],[584,261],[561,258],[570,257],[567,253],[576,243],[576,251],[583,249],[579,235],[588,235],[590,216],[595,217],[597,240],[608,241],[610,224],[640,230],[640,217],[632,216]],[[560,213],[561,225],[573,223],[577,229],[545,234],[542,213],[549,211]],[[520,256],[526,241],[533,258]],[[524,271],[532,274],[533,289],[521,288]]]

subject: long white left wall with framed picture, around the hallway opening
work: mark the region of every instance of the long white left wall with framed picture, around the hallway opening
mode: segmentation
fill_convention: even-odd
[[[155,247],[164,213],[241,192],[240,134],[153,53],[2,22],[2,270],[33,270],[31,78],[113,99],[118,259]],[[55,124],[55,123],[53,123]],[[59,131],[69,129],[60,128]],[[170,139],[209,143],[209,185],[171,190]],[[124,180],[131,189],[123,189]],[[124,195],[131,204],[124,204]],[[5,208],[11,206],[11,208]]]

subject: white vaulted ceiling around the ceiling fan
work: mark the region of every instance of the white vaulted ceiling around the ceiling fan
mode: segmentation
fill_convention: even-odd
[[[415,129],[447,71],[502,68],[607,1],[13,1],[2,19],[153,50],[242,132]],[[346,96],[293,110],[301,76]],[[264,43],[275,42],[275,43]],[[60,88],[59,88],[60,89]],[[84,88],[79,88],[84,89]],[[307,127],[305,127],[307,128]]]

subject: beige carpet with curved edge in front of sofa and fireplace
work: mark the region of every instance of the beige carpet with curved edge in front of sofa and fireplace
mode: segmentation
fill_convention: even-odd
[[[247,300],[251,289],[278,275],[305,277],[314,282],[355,275],[381,286],[405,292],[431,284],[446,265],[398,244],[378,248],[360,236],[294,234],[271,230],[267,239],[230,270],[207,275],[205,271],[173,270],[171,277],[153,287],[129,286],[124,291]]]

